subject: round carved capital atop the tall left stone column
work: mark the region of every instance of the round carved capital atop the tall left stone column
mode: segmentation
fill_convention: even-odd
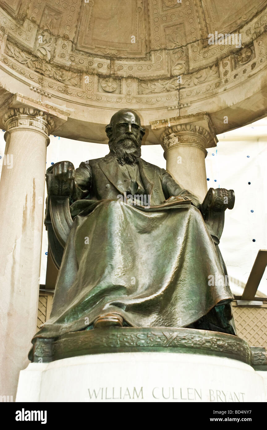
[[[46,112],[31,107],[11,108],[3,116],[3,125],[7,132],[16,128],[34,129],[50,135],[54,129],[54,120]]]

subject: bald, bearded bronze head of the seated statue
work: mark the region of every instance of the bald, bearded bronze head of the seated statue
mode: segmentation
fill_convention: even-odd
[[[140,117],[132,109],[121,109],[112,116],[109,125],[106,126],[106,135],[109,138],[109,149],[118,163],[137,163],[141,156],[145,131],[141,126]]]

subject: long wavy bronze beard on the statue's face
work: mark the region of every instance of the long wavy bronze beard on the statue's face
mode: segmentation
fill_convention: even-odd
[[[123,134],[118,138],[110,138],[109,149],[121,166],[126,163],[135,166],[141,157],[141,139],[127,134]]]

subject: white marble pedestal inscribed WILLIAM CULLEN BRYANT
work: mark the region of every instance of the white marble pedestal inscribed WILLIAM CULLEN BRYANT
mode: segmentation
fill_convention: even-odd
[[[129,352],[30,363],[16,402],[266,402],[267,372],[235,359]]]

